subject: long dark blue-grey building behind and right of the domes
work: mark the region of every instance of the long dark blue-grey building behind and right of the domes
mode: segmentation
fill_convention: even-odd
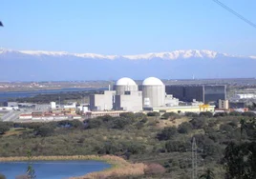
[[[166,86],[167,94],[185,102],[194,99],[203,103],[217,103],[219,99],[226,100],[226,87],[224,85],[191,85],[191,86]]]

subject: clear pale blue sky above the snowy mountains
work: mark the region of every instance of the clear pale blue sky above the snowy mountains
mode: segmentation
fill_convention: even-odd
[[[255,0],[220,0],[256,23]],[[0,47],[256,55],[256,29],[212,0],[1,0]]]

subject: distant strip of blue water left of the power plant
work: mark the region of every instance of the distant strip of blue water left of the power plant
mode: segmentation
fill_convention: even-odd
[[[102,88],[105,89],[105,88]],[[43,89],[43,90],[26,90],[26,91],[0,91],[0,102],[8,101],[9,99],[16,99],[22,97],[33,97],[37,94],[55,94],[61,92],[75,92],[94,90],[93,88],[87,89]]]

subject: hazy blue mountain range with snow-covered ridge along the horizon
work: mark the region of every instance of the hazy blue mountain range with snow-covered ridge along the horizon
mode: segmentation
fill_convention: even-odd
[[[212,50],[175,50],[137,55],[0,49],[0,81],[255,77],[256,56]]]

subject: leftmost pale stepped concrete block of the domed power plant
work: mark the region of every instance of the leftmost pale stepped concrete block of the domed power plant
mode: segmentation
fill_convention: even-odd
[[[103,94],[90,95],[91,110],[111,110],[115,104],[115,90],[105,90]]]

